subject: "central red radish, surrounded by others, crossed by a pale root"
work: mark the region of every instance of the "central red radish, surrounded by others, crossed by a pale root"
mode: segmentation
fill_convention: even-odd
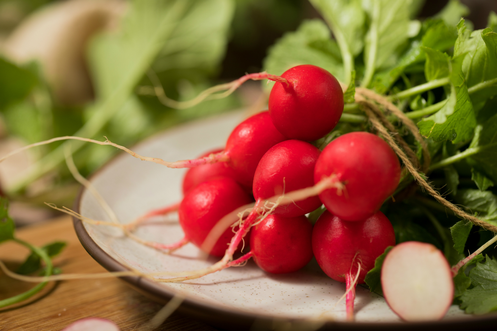
[[[314,166],[321,151],[301,140],[286,140],[274,145],[260,159],[253,178],[255,200],[314,185]],[[295,217],[305,215],[321,206],[318,196],[280,206],[275,215]]]

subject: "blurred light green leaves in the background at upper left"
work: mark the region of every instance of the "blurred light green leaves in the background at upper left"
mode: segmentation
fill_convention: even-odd
[[[119,29],[100,33],[87,46],[95,89],[90,104],[58,104],[36,63],[19,67],[0,57],[0,112],[9,135],[26,144],[65,135],[109,136],[129,146],[179,122],[239,106],[233,96],[177,111],[161,104],[155,95],[143,95],[139,88],[153,85],[147,75],[151,70],[174,99],[189,99],[209,87],[224,57],[235,9],[232,0],[137,0],[128,4]],[[2,188],[10,194],[22,192],[33,180],[54,170],[59,184],[72,182],[67,168],[60,166],[64,161],[60,145],[42,147],[39,155],[44,157],[16,183]],[[116,152],[80,142],[62,145],[71,145],[83,175]],[[45,199],[61,202],[56,196]]]

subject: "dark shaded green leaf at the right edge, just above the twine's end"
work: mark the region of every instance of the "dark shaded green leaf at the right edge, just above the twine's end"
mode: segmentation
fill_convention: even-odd
[[[482,147],[497,143],[497,114],[488,119],[482,126],[479,135],[475,132],[474,142],[470,147]],[[480,153],[472,155],[466,160],[470,165],[477,167],[482,173],[490,178],[493,182],[497,182],[497,145],[486,148]]]

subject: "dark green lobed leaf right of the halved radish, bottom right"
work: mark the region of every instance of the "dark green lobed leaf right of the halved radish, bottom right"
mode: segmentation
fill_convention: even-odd
[[[470,270],[469,278],[473,287],[461,295],[460,307],[478,315],[497,310],[497,261],[487,255]]]

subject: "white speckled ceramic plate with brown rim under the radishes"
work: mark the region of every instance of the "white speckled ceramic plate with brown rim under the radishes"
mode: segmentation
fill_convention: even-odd
[[[179,126],[148,139],[133,150],[141,155],[168,161],[194,158],[206,150],[223,146],[243,116],[242,112],[232,112]],[[120,222],[128,223],[150,209],[179,201],[184,171],[140,162],[123,153],[92,176],[91,182],[115,211]],[[83,216],[108,220],[106,213],[87,190],[82,191],[75,208]],[[127,266],[132,266],[143,272],[185,271],[203,268],[217,260],[214,257],[205,260],[192,244],[167,255],[134,242],[115,228],[83,225],[78,220],[75,220],[75,228],[86,250],[108,270],[125,270]],[[136,234],[161,243],[172,243],[183,236],[176,215],[171,216],[166,223],[148,223],[139,228]],[[326,276],[315,262],[303,270],[283,275],[265,273],[250,261],[244,267],[228,268],[183,283],[155,283],[139,277],[125,277],[125,280],[162,302],[181,291],[186,296],[181,307],[184,313],[223,328],[240,330],[252,326],[252,329],[268,329],[278,323],[286,323],[284,325],[288,327],[288,323],[301,325],[302,320],[317,319],[323,323],[327,321],[325,327],[333,329],[350,329],[352,326],[343,322],[344,302],[335,307],[345,285]],[[417,329],[443,325],[455,330],[474,326],[475,323],[471,316],[465,315],[457,306],[452,306],[445,319],[435,324],[402,323],[383,297],[360,286],[356,293],[357,323],[353,325],[354,328]],[[279,322],[274,324],[274,321]],[[468,322],[471,324],[466,325]],[[307,330],[316,329],[321,324],[310,324]]]

